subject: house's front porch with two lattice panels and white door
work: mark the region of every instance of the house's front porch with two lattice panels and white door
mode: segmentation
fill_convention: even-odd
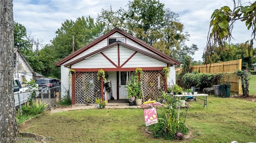
[[[161,67],[162,68],[162,67]],[[134,69],[135,71],[135,69]],[[72,104],[95,104],[96,98],[108,100],[108,103],[129,103],[126,86],[134,71],[105,71],[108,80],[97,79],[97,72],[76,72],[72,75]],[[156,100],[162,90],[166,90],[167,82],[160,70],[144,71],[140,78],[144,100]],[[102,86],[102,84],[104,86]],[[106,92],[105,92],[106,91]],[[105,95],[106,94],[106,95]],[[114,100],[111,100],[111,97]],[[142,98],[143,99],[143,98]],[[90,100],[90,101],[88,101]],[[144,102],[142,100],[142,102]]]

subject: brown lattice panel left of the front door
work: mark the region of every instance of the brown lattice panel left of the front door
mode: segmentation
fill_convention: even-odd
[[[76,72],[75,104],[86,104],[86,98],[95,104],[95,97],[100,97],[100,80],[97,72]]]

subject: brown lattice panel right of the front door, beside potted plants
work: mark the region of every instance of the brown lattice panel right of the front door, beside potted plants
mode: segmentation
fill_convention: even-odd
[[[157,88],[158,75],[160,76],[160,89]],[[145,101],[149,98],[156,100],[161,90],[164,90],[164,76],[158,71],[144,71],[141,81]]]

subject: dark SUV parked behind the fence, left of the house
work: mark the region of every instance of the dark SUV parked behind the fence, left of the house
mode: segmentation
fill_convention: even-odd
[[[56,78],[38,78],[36,79],[36,83],[38,84],[39,88],[42,88],[44,90],[45,88],[51,89],[51,98],[56,97],[56,92],[60,91],[60,80]],[[48,93],[46,95],[44,94],[44,97],[48,97]]]

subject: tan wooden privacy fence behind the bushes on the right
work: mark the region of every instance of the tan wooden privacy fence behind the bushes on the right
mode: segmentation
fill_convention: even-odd
[[[180,70],[176,71],[176,74],[182,71],[182,67],[175,68],[175,70],[177,69],[180,69]],[[238,69],[242,70],[242,59],[220,62],[220,63],[212,63],[211,65],[206,64],[206,65],[198,65],[198,66],[191,67],[191,71],[198,71],[200,73],[222,73],[222,72],[228,73],[224,75],[224,77],[220,81],[220,84],[230,83],[231,91],[238,92],[238,94],[242,94],[241,81],[234,74],[234,72],[237,71]]]

